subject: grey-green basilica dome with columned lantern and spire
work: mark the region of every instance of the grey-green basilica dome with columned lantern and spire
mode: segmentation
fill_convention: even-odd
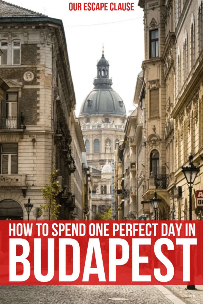
[[[122,98],[111,88],[112,79],[109,78],[109,64],[104,54],[97,63],[97,77],[94,78],[93,84],[93,90],[82,103],[79,117],[103,114],[126,115]]]

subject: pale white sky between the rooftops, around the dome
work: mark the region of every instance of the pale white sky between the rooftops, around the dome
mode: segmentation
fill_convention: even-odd
[[[138,7],[138,0],[134,2],[134,11],[123,12],[69,11],[68,6],[71,1],[65,0],[8,0],[8,2],[49,17],[62,19],[75,89],[76,115],[79,113],[82,101],[93,88],[96,63],[102,55],[102,43],[104,55],[110,64],[109,76],[113,80],[112,88],[123,99],[127,111],[134,109],[132,102],[136,78],[144,60],[143,11]],[[80,2],[83,4],[88,1]],[[105,2],[111,1],[105,0]],[[126,19],[134,20],[117,22]],[[116,23],[94,25],[108,22]]]

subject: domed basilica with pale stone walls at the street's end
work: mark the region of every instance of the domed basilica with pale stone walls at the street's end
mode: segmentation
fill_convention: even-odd
[[[111,161],[115,145],[124,137],[125,105],[112,89],[109,63],[102,54],[97,62],[94,88],[85,98],[79,120],[85,140],[88,166],[93,178],[92,216],[111,206]]]

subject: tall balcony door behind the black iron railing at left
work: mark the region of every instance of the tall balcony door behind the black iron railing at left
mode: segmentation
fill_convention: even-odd
[[[18,94],[6,93],[2,102],[2,129],[17,129]]]

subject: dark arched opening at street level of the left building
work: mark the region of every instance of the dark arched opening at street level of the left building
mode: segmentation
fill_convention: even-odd
[[[0,220],[23,220],[23,209],[19,203],[12,199],[0,202]]]

